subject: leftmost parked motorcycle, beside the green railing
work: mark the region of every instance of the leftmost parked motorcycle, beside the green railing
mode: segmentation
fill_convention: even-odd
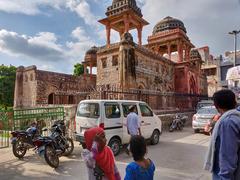
[[[27,150],[34,148],[33,141],[39,136],[36,123],[33,123],[26,131],[11,132],[12,151],[15,157],[21,159]]]

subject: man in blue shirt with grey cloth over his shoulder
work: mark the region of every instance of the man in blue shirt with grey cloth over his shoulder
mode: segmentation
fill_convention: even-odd
[[[225,89],[215,92],[213,101],[221,117],[211,136],[204,169],[212,172],[213,180],[239,180],[240,112],[236,97]]]

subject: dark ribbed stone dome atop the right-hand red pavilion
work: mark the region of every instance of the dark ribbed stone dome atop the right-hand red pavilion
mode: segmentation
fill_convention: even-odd
[[[180,28],[185,33],[187,33],[186,28],[182,21],[168,16],[155,25],[155,27],[153,28],[153,35],[158,32],[177,28]]]

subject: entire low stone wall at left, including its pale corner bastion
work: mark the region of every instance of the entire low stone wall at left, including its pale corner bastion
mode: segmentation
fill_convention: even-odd
[[[35,66],[21,67],[15,84],[15,107],[49,104],[77,104],[86,98],[81,93],[96,85],[95,75],[73,76],[37,70]]]

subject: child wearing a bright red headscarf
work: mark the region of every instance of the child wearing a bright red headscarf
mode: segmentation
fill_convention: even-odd
[[[102,171],[104,180],[121,180],[112,150],[106,146],[102,128],[91,128],[84,133],[85,147],[82,157],[88,168],[89,180],[96,180],[96,170]],[[99,177],[101,179],[101,177]]]

